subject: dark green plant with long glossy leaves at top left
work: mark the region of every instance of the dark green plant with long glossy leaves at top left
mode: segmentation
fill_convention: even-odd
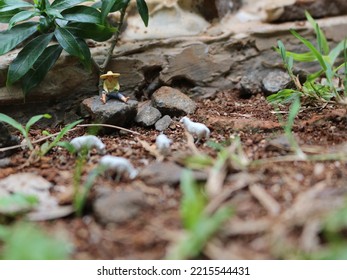
[[[98,67],[93,63],[86,39],[102,42],[114,34],[118,37],[130,0],[103,0],[93,6],[82,5],[90,2],[83,0],[33,2],[0,0],[0,22],[8,23],[8,30],[0,32],[0,55],[23,45],[9,66],[6,83],[10,86],[21,80],[24,94],[40,84],[63,50],[77,57],[88,71],[92,66]],[[146,2],[136,0],[136,3],[147,26]],[[116,11],[121,11],[122,19],[114,27],[107,15]]]

